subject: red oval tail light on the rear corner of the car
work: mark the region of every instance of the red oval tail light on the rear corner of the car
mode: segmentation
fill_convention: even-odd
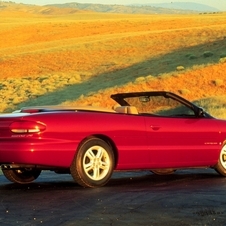
[[[13,133],[40,133],[46,129],[45,124],[35,121],[15,121],[10,125]]]

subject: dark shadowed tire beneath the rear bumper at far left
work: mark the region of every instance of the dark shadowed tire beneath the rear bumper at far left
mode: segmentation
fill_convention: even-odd
[[[39,169],[10,169],[2,170],[4,176],[11,182],[18,184],[29,184],[41,174]]]

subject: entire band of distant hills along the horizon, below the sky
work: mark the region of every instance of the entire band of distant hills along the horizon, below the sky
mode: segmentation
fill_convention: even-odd
[[[211,11],[212,10],[212,11]],[[14,2],[1,2],[0,12],[15,11],[45,15],[63,15],[82,12],[102,12],[121,14],[191,14],[197,12],[217,12],[217,9],[196,3],[165,3],[165,4],[133,4],[133,5],[107,5],[70,2],[65,4],[50,4],[45,6],[18,4]]]

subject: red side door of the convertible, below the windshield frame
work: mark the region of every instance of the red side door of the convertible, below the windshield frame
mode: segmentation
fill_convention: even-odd
[[[145,117],[150,165],[196,167],[217,161],[221,134],[214,119]]]

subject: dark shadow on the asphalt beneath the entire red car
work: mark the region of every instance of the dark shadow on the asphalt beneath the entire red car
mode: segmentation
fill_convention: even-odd
[[[36,181],[30,184],[16,184],[9,182],[4,176],[0,176],[0,190],[17,190],[17,191],[42,191],[42,190],[84,190],[73,181],[70,175],[52,176],[50,173],[43,173]],[[198,188],[206,186],[219,186],[213,183],[224,183],[224,177],[221,177],[213,170],[181,170],[171,175],[155,175],[149,171],[136,172],[115,172],[110,181],[101,188],[97,189],[158,189],[165,190],[168,188]]]

